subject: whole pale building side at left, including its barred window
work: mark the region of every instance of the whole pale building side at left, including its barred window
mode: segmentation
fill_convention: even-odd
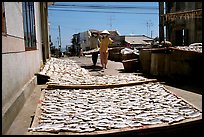
[[[37,84],[50,57],[47,2],[2,2],[2,133]]]

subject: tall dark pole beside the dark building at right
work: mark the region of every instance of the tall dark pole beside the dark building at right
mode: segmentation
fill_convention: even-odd
[[[164,41],[164,2],[159,2],[159,43]]]

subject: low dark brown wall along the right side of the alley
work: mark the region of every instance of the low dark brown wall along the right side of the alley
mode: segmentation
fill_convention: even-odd
[[[176,49],[140,50],[141,70],[171,80],[198,82],[202,78],[202,53]]]

